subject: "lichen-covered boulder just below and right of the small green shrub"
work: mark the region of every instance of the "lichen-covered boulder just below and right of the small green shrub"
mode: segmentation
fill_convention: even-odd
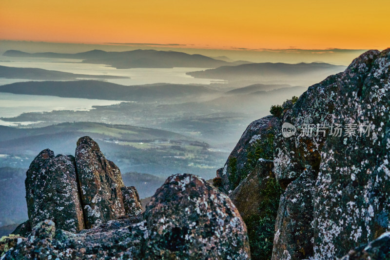
[[[283,120],[274,138],[274,173],[283,189],[298,178],[304,169],[312,167],[318,172],[320,152],[329,127],[338,90],[339,74],[314,84],[303,93],[284,113]],[[298,131],[292,137],[282,135],[282,124],[290,123]],[[318,129],[318,134],[317,134]]]

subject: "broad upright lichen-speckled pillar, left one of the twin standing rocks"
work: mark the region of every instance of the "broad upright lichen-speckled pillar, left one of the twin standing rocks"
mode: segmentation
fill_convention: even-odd
[[[31,226],[51,219],[63,230],[84,229],[75,158],[43,150],[26,173],[26,200]]]

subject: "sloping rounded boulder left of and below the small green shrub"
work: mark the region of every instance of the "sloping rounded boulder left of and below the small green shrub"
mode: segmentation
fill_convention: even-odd
[[[248,125],[225,166],[217,171],[226,194],[232,192],[251,173],[258,159],[273,159],[273,136],[278,127],[279,119],[273,116],[255,120]]]

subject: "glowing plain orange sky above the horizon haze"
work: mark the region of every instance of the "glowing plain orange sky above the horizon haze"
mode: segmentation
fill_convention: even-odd
[[[0,40],[384,49],[389,10],[389,0],[1,0]]]

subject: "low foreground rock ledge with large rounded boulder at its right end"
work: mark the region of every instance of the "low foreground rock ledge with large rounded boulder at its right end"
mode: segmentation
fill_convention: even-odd
[[[45,220],[27,238],[6,239],[12,248],[8,246],[2,258],[15,260],[249,259],[250,255],[246,227],[232,201],[190,174],[169,177],[148,204],[145,220],[129,226],[74,234]]]

